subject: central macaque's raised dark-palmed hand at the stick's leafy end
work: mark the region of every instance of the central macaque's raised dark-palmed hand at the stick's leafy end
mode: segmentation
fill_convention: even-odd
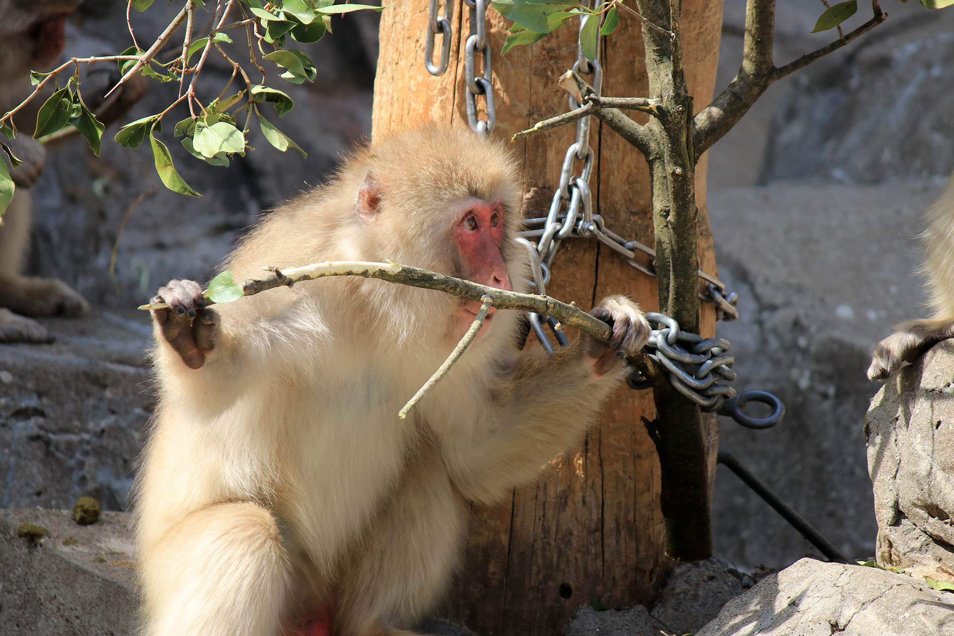
[[[195,280],[170,280],[156,292],[153,302],[169,307],[154,309],[153,318],[162,337],[190,369],[205,364],[218,345],[218,313],[205,308],[202,288]]]

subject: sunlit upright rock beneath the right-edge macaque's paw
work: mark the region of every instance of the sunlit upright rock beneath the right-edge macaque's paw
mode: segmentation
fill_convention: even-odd
[[[954,582],[954,340],[888,379],[864,419],[876,556]]]

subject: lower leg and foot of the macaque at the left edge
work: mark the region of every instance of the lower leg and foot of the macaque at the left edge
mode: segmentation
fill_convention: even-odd
[[[17,189],[0,225],[0,307],[26,316],[87,312],[90,305],[62,280],[20,276],[30,240],[31,214],[30,190]],[[39,324],[36,328],[43,329]]]

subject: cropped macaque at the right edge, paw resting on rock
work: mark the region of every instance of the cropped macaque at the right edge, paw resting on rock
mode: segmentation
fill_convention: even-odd
[[[954,177],[926,217],[927,257],[922,271],[927,275],[934,317],[902,322],[895,333],[881,340],[871,356],[868,380],[883,380],[903,362],[913,362],[941,340],[954,337]]]

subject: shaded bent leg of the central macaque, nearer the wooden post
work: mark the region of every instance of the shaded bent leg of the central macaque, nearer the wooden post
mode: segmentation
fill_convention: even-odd
[[[336,634],[403,636],[446,593],[460,562],[467,506],[428,442],[345,568]]]

